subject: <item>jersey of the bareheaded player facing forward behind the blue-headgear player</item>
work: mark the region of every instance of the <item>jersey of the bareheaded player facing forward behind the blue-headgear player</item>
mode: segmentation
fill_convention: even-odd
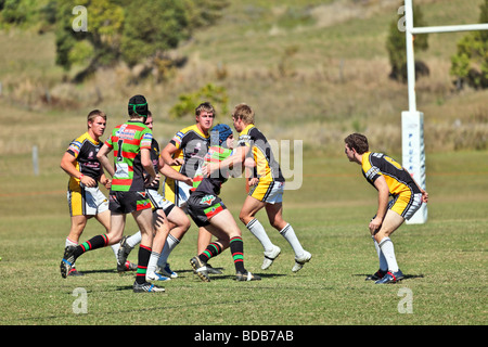
[[[172,166],[174,169],[188,177],[194,177],[208,151],[210,136],[204,134],[196,125],[178,131],[169,141],[178,151],[174,158],[182,158],[182,166]]]

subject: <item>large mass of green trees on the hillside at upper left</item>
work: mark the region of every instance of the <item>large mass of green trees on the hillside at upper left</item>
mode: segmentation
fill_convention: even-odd
[[[166,53],[220,18],[227,0],[0,0],[0,27],[55,33],[56,64],[86,66],[82,79],[119,61],[147,63],[164,74]],[[75,8],[86,9],[86,18]],[[84,15],[82,13],[79,15]],[[86,21],[77,30],[74,21]]]

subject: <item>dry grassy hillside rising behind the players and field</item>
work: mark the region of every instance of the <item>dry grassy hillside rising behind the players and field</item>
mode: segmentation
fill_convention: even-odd
[[[415,1],[429,25],[476,23],[480,3]],[[342,152],[345,134],[362,131],[374,147],[398,153],[407,86],[388,79],[385,49],[397,8],[398,1],[385,0],[231,1],[218,25],[171,52],[187,56],[188,63],[159,85],[152,78],[131,83],[134,72],[119,65],[74,86],[63,80],[75,72],[54,65],[52,33],[0,33],[0,43],[8,48],[0,56],[0,103],[15,114],[33,112],[27,116],[33,128],[52,120],[62,124],[66,131],[50,136],[61,150],[90,110],[106,111],[108,126],[114,126],[125,119],[127,100],[138,92],[147,95],[157,115],[156,134],[168,139],[192,121],[168,118],[178,95],[210,82],[227,89],[229,107],[252,104],[269,138],[304,140],[306,149],[334,155]],[[449,76],[450,56],[463,35],[431,35],[431,48],[416,55],[431,69],[416,85],[428,152],[487,147],[488,91],[454,92]],[[1,117],[9,115],[2,112]],[[229,121],[227,115],[219,120]],[[0,153],[12,153],[11,146],[26,153],[34,144],[25,138],[7,141],[3,133],[1,139],[9,144],[2,143]],[[46,150],[52,143],[40,145]]]

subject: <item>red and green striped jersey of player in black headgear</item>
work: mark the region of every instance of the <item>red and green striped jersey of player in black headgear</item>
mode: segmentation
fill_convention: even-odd
[[[151,150],[153,133],[142,121],[128,120],[117,126],[105,144],[114,150],[115,175],[112,179],[114,192],[142,192],[144,168],[141,149]]]

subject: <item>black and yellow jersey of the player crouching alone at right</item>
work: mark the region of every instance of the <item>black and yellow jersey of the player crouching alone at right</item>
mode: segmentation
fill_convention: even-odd
[[[402,192],[420,193],[420,189],[410,174],[399,163],[383,153],[364,153],[361,170],[367,181],[373,187],[374,181],[383,176],[388,184],[390,195],[398,195]]]

